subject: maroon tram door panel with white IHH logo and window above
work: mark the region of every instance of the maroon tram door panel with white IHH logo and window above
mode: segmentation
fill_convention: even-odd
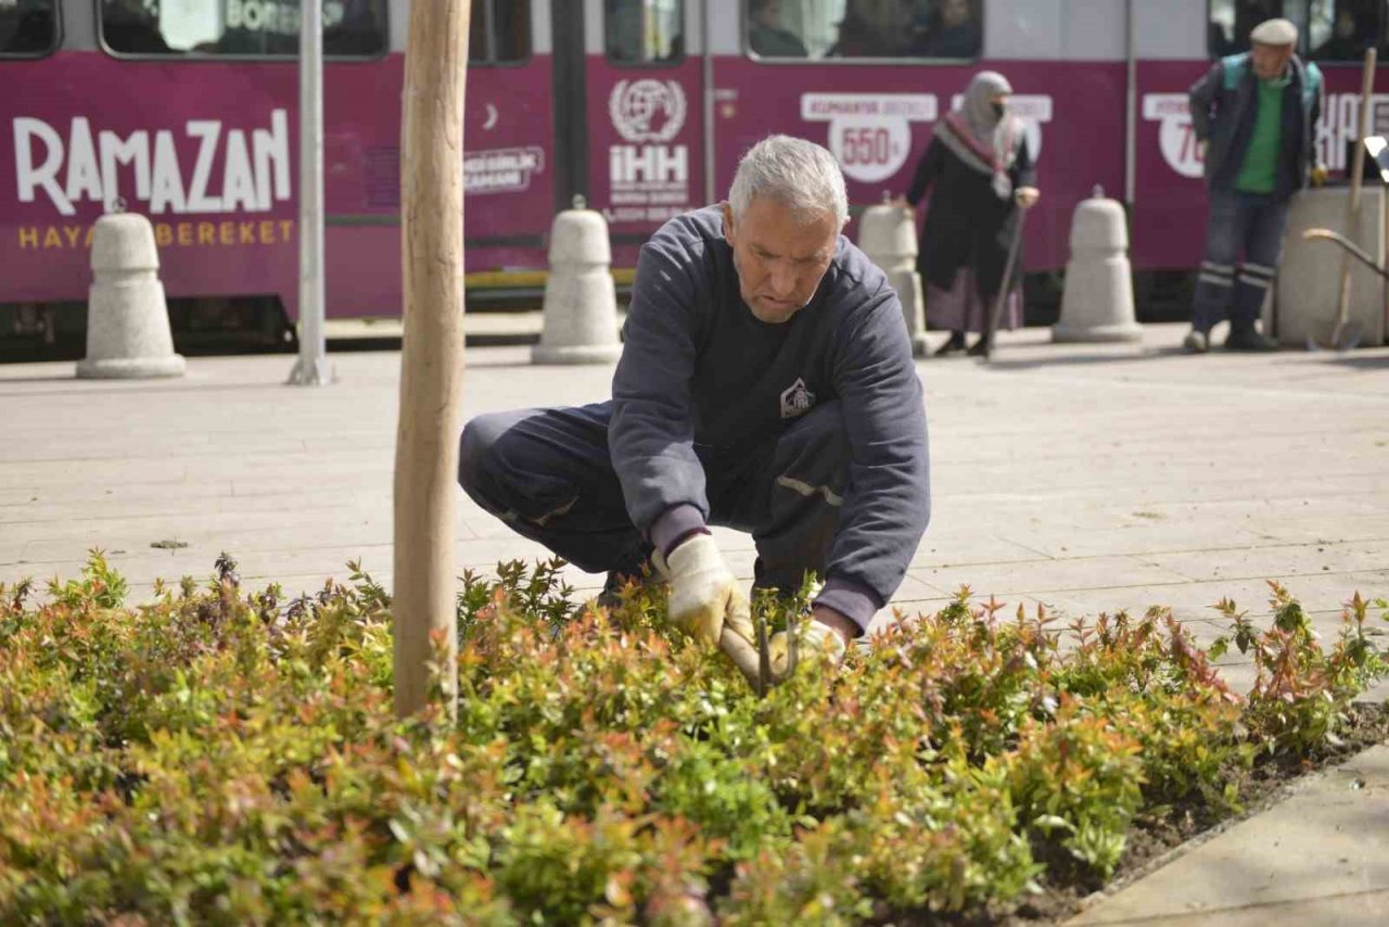
[[[704,0],[551,0],[556,207],[608,221],[619,282],[660,225],[706,202]]]

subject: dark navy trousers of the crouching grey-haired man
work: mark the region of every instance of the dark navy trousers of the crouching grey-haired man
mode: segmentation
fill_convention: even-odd
[[[608,454],[611,403],[478,416],[463,429],[458,482],[517,534],[589,573],[640,573],[651,545],[626,513]],[[838,402],[747,449],[694,445],[708,523],[753,535],[754,585],[792,591],[824,575],[849,477]]]

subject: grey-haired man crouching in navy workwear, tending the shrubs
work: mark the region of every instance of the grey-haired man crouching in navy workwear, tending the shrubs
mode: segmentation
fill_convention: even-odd
[[[842,657],[901,584],[931,509],[901,306],[840,235],[847,218],[829,151],[760,142],[726,203],[642,247],[611,402],[474,418],[463,488],[518,534],[608,571],[610,589],[650,557],[671,620],[745,668],[757,666],[747,595],[707,525],[751,532],[756,588],[824,580],[806,638]]]

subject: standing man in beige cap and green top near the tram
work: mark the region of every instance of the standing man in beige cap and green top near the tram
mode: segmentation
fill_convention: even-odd
[[[1317,160],[1321,71],[1293,54],[1297,26],[1268,19],[1249,38],[1253,50],[1221,58],[1189,92],[1210,185],[1206,260],[1186,336],[1186,349],[1197,354],[1226,314],[1225,347],[1278,350],[1254,324],[1278,275],[1288,200],[1324,177]]]

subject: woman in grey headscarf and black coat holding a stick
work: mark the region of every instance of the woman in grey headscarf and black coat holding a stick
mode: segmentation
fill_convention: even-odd
[[[1020,210],[1040,193],[1022,122],[1008,113],[1011,93],[1001,74],[976,74],[960,106],[936,124],[911,189],[897,199],[914,207],[931,190],[917,270],[926,284],[928,327],[950,329],[938,354],[961,350],[965,332],[985,331],[1000,289],[1008,293],[1000,325],[1022,324],[1021,257],[1008,281],[1003,271]],[[982,352],[983,338],[968,353]]]

